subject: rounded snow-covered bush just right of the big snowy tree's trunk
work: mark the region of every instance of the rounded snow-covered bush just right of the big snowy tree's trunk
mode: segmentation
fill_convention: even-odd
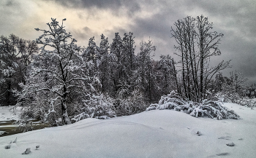
[[[92,95],[89,100],[84,100],[82,105],[75,107],[74,113],[72,122],[86,118],[108,119],[116,116],[113,98],[103,94]]]

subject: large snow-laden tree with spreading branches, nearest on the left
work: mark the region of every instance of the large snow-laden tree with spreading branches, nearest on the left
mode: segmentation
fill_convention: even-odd
[[[64,19],[66,20],[66,19]],[[98,79],[89,76],[89,64],[80,55],[80,47],[72,38],[71,33],[64,29],[56,19],[47,23],[49,29],[42,31],[42,36],[36,39],[37,44],[42,44],[40,53],[33,63],[26,79],[22,92],[18,93],[18,105],[36,107],[36,111],[45,113],[45,108],[57,111],[62,117],[62,124],[71,124],[68,108],[81,103],[89,98]],[[40,107],[45,100],[47,107]]]

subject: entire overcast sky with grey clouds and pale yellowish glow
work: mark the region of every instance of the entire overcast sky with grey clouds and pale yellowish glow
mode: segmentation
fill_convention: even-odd
[[[47,29],[50,17],[61,21],[66,30],[78,40],[78,45],[87,46],[95,36],[99,44],[100,34],[112,42],[115,32],[121,36],[133,32],[136,50],[140,41],[150,39],[157,46],[159,55],[173,55],[170,27],[176,20],[191,15],[204,15],[214,23],[213,31],[224,33],[219,49],[221,56],[211,62],[232,60],[232,68],[224,71],[241,71],[249,82],[256,83],[256,1],[255,0],[1,0],[0,35],[14,33],[23,39],[37,39],[41,32],[34,28]]]

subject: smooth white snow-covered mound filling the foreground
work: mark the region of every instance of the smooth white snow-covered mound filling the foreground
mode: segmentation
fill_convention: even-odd
[[[83,119],[2,137],[0,157],[255,157],[256,109],[233,103],[225,106],[242,119],[195,118],[172,110]],[[4,149],[15,138],[17,142]],[[226,145],[232,142],[235,146]],[[31,153],[23,155],[27,148]]]

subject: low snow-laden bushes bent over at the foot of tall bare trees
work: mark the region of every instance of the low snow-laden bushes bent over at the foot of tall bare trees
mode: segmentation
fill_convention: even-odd
[[[159,100],[159,103],[151,104],[146,111],[154,109],[174,109],[190,114],[191,116],[208,116],[212,119],[239,119],[234,111],[222,106],[222,102],[203,100],[202,103],[182,99],[176,92],[170,92]]]

